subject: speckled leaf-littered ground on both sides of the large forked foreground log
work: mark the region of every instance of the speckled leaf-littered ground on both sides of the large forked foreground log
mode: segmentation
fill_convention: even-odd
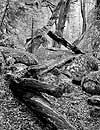
[[[43,78],[46,83],[66,85],[61,98],[44,95],[55,111],[63,115],[76,130],[100,130],[100,119],[90,117],[89,111],[92,108],[86,102],[89,95],[80,86],[68,84],[63,75],[58,79],[48,73]],[[47,127],[43,128],[34,114],[28,112],[24,104],[20,104],[13,97],[3,75],[0,76],[0,130],[48,130]]]

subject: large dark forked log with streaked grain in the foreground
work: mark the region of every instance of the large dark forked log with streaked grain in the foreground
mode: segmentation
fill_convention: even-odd
[[[9,88],[15,98],[24,103],[31,113],[35,113],[39,120],[49,124],[51,130],[54,128],[55,130],[58,130],[58,128],[75,130],[67,120],[51,108],[51,104],[41,94],[41,92],[50,92],[51,95],[58,97],[57,89],[33,79],[16,79],[15,81],[13,76],[10,78]]]

